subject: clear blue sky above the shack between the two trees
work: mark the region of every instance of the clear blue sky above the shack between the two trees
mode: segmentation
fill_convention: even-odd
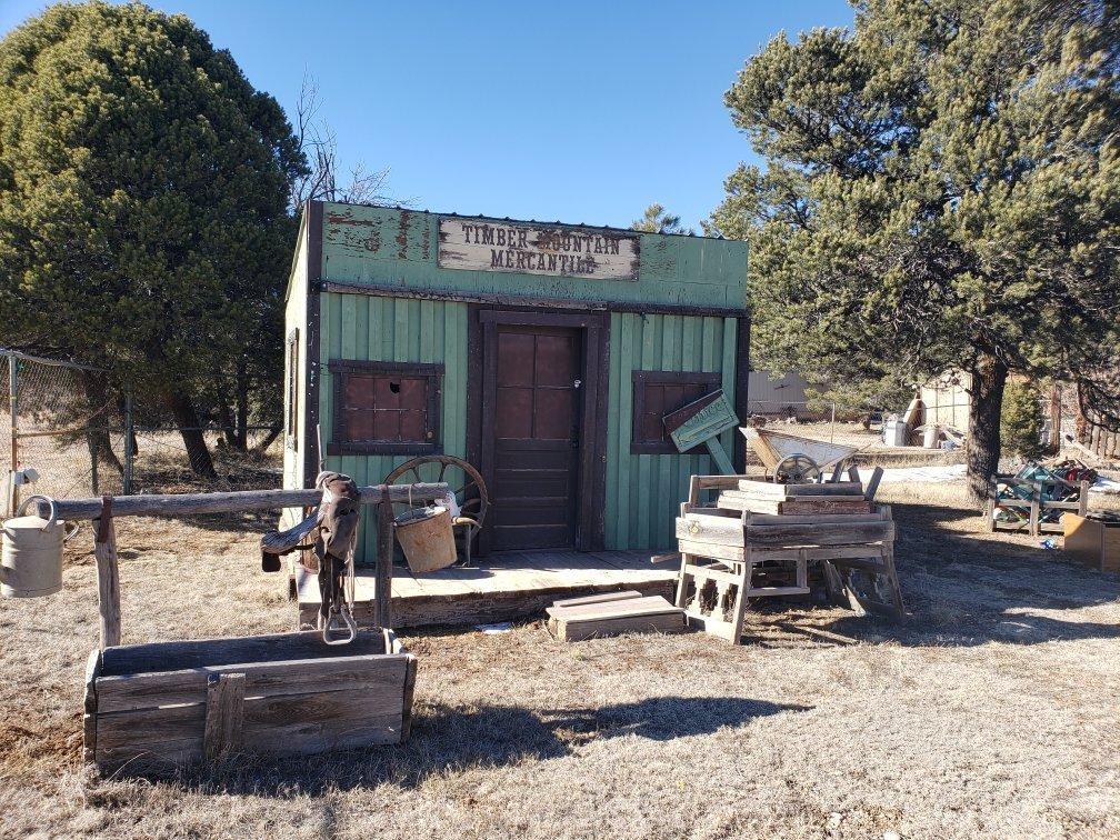
[[[844,0],[381,3],[157,0],[289,112],[305,71],[344,162],[418,208],[698,225],[750,159],[724,91],[774,34],[851,22]],[[0,0],[7,32],[46,3]]]

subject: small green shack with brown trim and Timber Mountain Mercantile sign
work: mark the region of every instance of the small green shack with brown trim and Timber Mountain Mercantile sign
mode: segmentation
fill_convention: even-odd
[[[743,242],[310,202],[284,486],[314,483],[320,439],[358,484],[444,452],[489,487],[483,552],[671,548],[689,476],[712,470],[661,417],[717,389],[745,416],[746,279]]]

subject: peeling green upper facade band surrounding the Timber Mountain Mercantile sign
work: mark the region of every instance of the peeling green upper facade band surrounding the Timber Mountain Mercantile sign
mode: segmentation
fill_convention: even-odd
[[[732,308],[746,305],[745,242],[642,234],[640,279],[633,282],[461,271],[437,265],[439,218],[438,214],[392,207],[324,205],[324,279],[428,291],[604,302]]]

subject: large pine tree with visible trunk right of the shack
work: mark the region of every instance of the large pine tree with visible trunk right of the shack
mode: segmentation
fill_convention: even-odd
[[[1008,374],[1114,367],[1120,7],[864,0],[784,34],[725,101],[764,167],[707,227],[748,239],[752,338],[827,381],[971,374],[970,489]]]

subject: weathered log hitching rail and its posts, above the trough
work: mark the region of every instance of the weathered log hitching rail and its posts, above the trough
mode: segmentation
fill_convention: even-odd
[[[442,498],[448,485],[376,484],[361,487],[362,504],[377,505],[377,567],[375,616],[382,627],[392,627],[393,512],[392,503],[427,503]],[[55,514],[62,521],[93,520],[93,551],[97,561],[97,608],[101,614],[101,648],[121,643],[121,591],[116,566],[115,516],[178,516],[200,513],[243,513],[281,507],[309,507],[323,497],[318,489],[237,491],[232,493],[184,493],[101,498],[56,500]],[[40,516],[48,516],[39,503]]]

